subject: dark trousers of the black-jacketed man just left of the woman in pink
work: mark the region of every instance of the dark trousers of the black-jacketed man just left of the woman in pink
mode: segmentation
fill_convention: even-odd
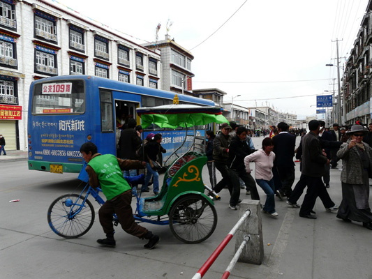
[[[251,199],[260,200],[258,195],[257,187],[255,186],[255,180],[251,174],[247,174],[245,169],[237,171],[236,169],[230,169],[230,179],[232,189],[230,191],[230,205],[236,206],[240,196],[240,182],[239,178],[246,184],[246,190],[251,190]],[[230,190],[230,188],[229,188]]]

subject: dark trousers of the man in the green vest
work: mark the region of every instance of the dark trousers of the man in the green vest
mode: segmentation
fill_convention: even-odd
[[[133,236],[137,236],[140,239],[144,238],[144,235],[147,234],[148,230],[135,223],[131,201],[132,190],[128,190],[121,195],[110,199],[109,201],[105,202],[103,206],[101,206],[98,211],[98,216],[105,234],[114,233],[112,214],[116,213],[117,218],[119,218],[120,225],[125,232],[132,234]]]

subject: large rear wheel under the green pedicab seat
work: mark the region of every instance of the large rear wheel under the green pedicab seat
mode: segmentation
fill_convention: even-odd
[[[172,234],[185,243],[208,239],[217,225],[216,209],[202,195],[181,197],[174,202],[168,215]]]

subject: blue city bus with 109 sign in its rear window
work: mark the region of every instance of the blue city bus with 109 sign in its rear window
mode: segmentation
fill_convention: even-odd
[[[62,75],[32,82],[29,93],[29,169],[79,173],[80,146],[94,142],[99,153],[117,155],[121,121],[134,118],[137,107],[172,104],[175,93],[90,75]],[[211,100],[179,95],[180,104],[214,106]],[[183,142],[185,131],[156,126],[169,156]],[[119,155],[117,155],[119,156]]]

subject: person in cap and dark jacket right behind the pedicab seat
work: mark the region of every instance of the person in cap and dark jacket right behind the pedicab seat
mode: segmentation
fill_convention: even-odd
[[[230,193],[232,192],[232,184],[228,168],[229,145],[231,142],[231,136],[229,133],[231,130],[229,123],[222,123],[221,133],[216,135],[213,142],[214,165],[216,165],[216,169],[218,169],[222,175],[221,181],[219,181],[213,188],[216,193],[219,193],[226,185],[228,186]]]

